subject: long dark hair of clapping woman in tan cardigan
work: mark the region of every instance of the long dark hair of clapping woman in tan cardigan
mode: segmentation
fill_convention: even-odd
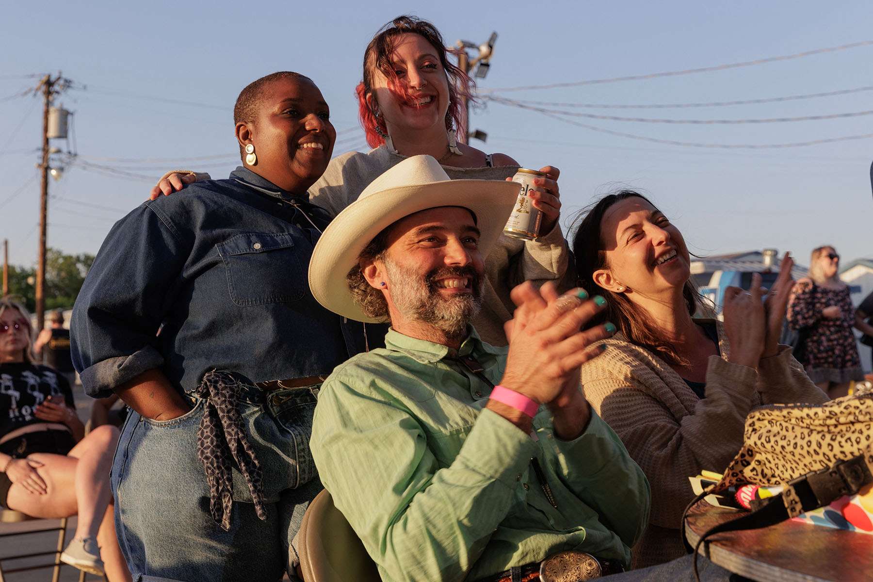
[[[632,197],[642,198],[645,202],[649,202],[652,207],[655,207],[648,198],[635,190],[620,190],[603,196],[588,209],[583,209],[577,216],[577,218],[585,216],[573,236],[573,252],[576,259],[576,271],[579,273],[579,284],[592,295],[599,293],[607,299],[607,307],[601,312],[598,322],[611,321],[632,344],[656,353],[661,359],[672,365],[687,366],[688,361],[677,353],[671,343],[652,330],[649,312],[636,305],[624,293],[614,293],[608,289],[603,289],[595,283],[593,277],[596,270],[608,267],[606,244],[603,243],[601,233],[603,216],[616,202]],[[685,282],[682,295],[688,312],[692,316],[698,310],[709,312],[692,281],[692,277],[689,277],[688,281]]]

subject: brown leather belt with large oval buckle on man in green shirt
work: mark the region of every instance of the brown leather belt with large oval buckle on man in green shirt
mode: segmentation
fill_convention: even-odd
[[[571,550],[560,551],[542,562],[498,572],[478,582],[584,582],[621,572],[624,567],[617,560],[602,560],[584,551]]]

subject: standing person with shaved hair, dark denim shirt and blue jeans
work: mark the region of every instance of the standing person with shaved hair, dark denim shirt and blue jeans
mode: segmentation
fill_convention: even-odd
[[[296,579],[292,539],[321,490],[315,394],[367,346],[306,284],[329,221],[306,190],[336,140],[319,88],[272,73],[240,92],[234,120],[244,167],[116,223],[72,314],[86,392],[133,409],[112,475],[144,580]]]

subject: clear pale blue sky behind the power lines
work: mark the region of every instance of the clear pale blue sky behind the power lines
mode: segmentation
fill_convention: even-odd
[[[42,102],[17,94],[35,86],[38,76],[60,71],[86,86],[59,99],[75,113],[69,147],[79,159],[50,183],[48,243],[67,253],[96,253],[113,222],[141,203],[165,170],[226,177],[238,162],[233,103],[245,85],[270,72],[302,72],[320,86],[339,133],[334,154],[366,151],[354,101],[363,49],[402,13],[430,19],[449,44],[458,38],[481,43],[498,31],[491,71],[479,84],[483,91],[684,71],[873,40],[870,0],[7,3],[0,37],[0,239],[9,239],[10,263],[32,265],[37,256],[34,164]],[[873,86],[871,62],[873,45],[865,45],[714,72],[493,94],[612,106],[772,99]],[[755,120],[865,112],[873,110],[871,97],[865,90],[733,106],[564,109]],[[574,120],[659,140],[723,145],[873,134],[873,115],[705,125]],[[649,194],[698,254],[774,247],[808,264],[812,248],[830,243],[843,264],[873,257],[871,138],[809,147],[682,147],[487,101],[474,109],[471,127],[488,133],[477,147],[510,154],[527,168],[561,169],[565,222],[596,195],[629,186]],[[64,140],[52,145],[68,147]],[[185,159],[206,156],[215,157]]]

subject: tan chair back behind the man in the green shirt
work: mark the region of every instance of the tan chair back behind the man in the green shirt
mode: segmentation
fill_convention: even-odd
[[[375,562],[327,490],[309,503],[297,540],[304,582],[381,580]]]

